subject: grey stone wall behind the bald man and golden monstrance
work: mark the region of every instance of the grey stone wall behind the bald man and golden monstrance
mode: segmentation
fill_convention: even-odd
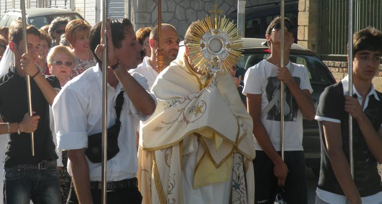
[[[245,6],[273,2],[277,3],[280,0],[247,0]],[[162,0],[162,23],[173,25],[182,40],[189,24],[197,19],[203,19],[206,14],[209,14],[208,10],[214,9],[215,3],[218,4],[219,10],[223,10],[224,15],[238,7],[237,0]],[[133,4],[132,19],[134,19],[136,30],[157,25],[157,1],[137,0]]]

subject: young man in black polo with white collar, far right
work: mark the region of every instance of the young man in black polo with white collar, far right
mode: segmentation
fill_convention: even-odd
[[[377,162],[382,163],[382,93],[372,84],[382,56],[382,32],[353,34],[353,97],[349,78],[327,87],[315,116],[321,134],[321,171],[316,203],[381,203]],[[353,117],[354,179],[349,161],[349,114]]]

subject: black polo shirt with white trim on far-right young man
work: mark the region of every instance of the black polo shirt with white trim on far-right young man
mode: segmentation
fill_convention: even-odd
[[[379,99],[382,94],[377,92]],[[354,94],[355,95],[355,94]],[[355,95],[356,96],[356,95]],[[382,103],[374,95],[369,96],[369,103],[364,110],[375,131],[378,132],[382,124]],[[345,97],[343,84],[327,87],[321,94],[317,116],[337,119],[341,121],[342,149],[349,162],[349,114],[345,111]],[[322,122],[319,121],[321,135],[321,173],[319,188],[331,193],[344,195],[341,186],[334,175],[329,160]],[[377,161],[369,151],[366,141],[360,131],[357,121],[353,118],[353,157],[354,157],[354,183],[361,197],[370,196],[382,191],[381,178],[378,174]],[[350,164],[350,162],[349,162]]]

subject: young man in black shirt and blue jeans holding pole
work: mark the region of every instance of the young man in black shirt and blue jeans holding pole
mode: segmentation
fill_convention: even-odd
[[[55,76],[41,74],[35,65],[40,32],[34,26],[27,27],[29,54],[25,54],[22,28],[19,22],[9,31],[14,64],[0,78],[0,114],[3,121],[9,123],[11,133],[4,161],[4,203],[27,204],[30,200],[61,203],[56,169],[58,157],[49,128],[49,105],[52,105],[60,85]],[[20,123],[28,112],[27,74],[31,76],[32,110],[39,116],[39,119],[38,116],[29,117],[35,123],[38,119],[34,131],[34,156],[31,155],[31,136],[27,133],[30,130]]]

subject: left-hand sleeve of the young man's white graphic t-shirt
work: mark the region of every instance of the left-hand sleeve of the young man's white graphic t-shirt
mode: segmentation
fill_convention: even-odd
[[[260,64],[260,63],[259,63]],[[259,64],[251,67],[244,76],[243,94],[262,94],[264,76],[259,73]]]

